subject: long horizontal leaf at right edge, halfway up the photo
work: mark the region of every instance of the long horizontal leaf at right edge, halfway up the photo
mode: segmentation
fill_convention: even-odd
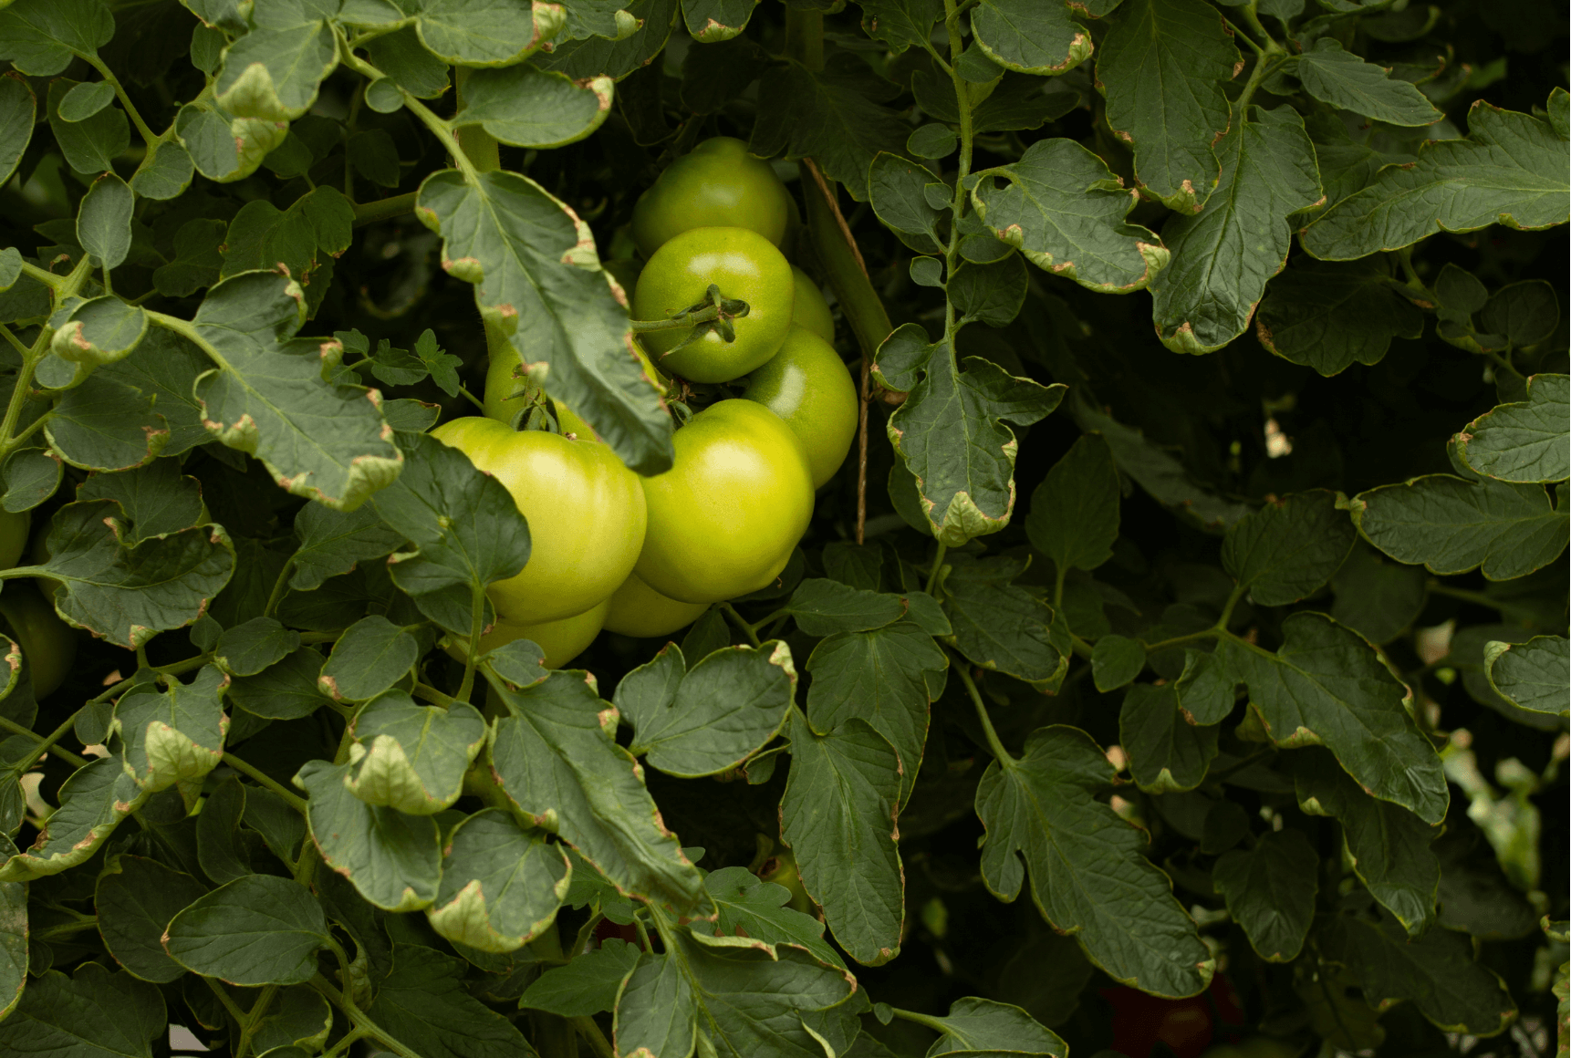
[[[1371,488],[1348,501],[1348,509],[1364,538],[1398,562],[1422,562],[1442,576],[1481,570],[1491,581],[1511,581],[1554,562],[1571,524],[1565,501],[1554,509],[1543,485],[1450,474]]]

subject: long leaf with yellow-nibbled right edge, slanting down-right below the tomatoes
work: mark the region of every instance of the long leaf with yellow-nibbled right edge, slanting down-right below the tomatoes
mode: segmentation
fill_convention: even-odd
[[[559,835],[624,895],[694,918],[712,914],[699,873],[661,823],[633,755],[616,744],[616,713],[594,680],[553,672],[515,691],[490,670],[487,678],[511,716],[496,721],[484,760],[522,821]]]

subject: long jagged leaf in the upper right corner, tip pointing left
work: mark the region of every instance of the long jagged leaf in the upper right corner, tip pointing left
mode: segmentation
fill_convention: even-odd
[[[1565,89],[1549,110],[1565,113]],[[1430,140],[1414,165],[1387,165],[1360,192],[1310,224],[1304,250],[1349,261],[1411,246],[1436,231],[1466,232],[1489,224],[1524,231],[1566,223],[1566,129],[1532,115],[1478,100],[1467,111],[1466,140]]]

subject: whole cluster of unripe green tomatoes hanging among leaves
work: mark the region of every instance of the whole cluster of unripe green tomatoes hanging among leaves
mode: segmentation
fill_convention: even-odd
[[[602,628],[666,636],[786,568],[858,421],[829,306],[781,251],[795,217],[775,170],[724,137],[638,201],[633,355],[663,394],[718,397],[676,432],[669,471],[632,472],[561,402],[561,432],[515,430],[531,400],[517,353],[493,350],[485,416],[432,432],[529,523],[528,565],[489,587],[498,620],[482,650],[529,639],[561,667]]]

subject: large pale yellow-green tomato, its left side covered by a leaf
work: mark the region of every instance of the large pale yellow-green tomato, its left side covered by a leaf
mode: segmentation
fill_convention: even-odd
[[[603,444],[470,416],[430,433],[500,480],[529,521],[529,562],[487,592],[511,622],[583,614],[622,586],[644,540],[638,476]]]

